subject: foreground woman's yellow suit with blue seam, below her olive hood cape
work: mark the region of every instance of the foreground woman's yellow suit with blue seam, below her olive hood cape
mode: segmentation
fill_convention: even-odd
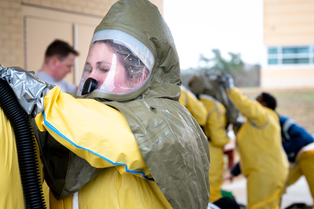
[[[58,87],[48,92],[44,105],[47,115],[37,115],[38,128],[93,167],[107,168],[79,190],[77,198],[57,201],[51,194],[50,208],[73,208],[73,201],[79,208],[171,208],[157,184],[145,179],[152,176],[121,112],[95,100],[76,100]],[[90,126],[89,118],[99,123]]]

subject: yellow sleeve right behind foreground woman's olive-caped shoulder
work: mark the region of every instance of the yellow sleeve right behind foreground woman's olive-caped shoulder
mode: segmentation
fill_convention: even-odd
[[[206,123],[206,107],[198,98],[185,86],[181,85],[181,96],[178,101],[187,108],[198,125],[204,126]]]

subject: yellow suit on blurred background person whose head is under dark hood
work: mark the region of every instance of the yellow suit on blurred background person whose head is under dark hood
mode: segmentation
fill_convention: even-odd
[[[223,183],[224,171],[224,150],[223,147],[229,142],[226,132],[227,118],[226,108],[214,97],[201,94],[199,100],[207,109],[207,123],[204,126],[204,133],[209,138],[208,147],[210,153],[209,167],[209,202],[221,198],[220,188]]]

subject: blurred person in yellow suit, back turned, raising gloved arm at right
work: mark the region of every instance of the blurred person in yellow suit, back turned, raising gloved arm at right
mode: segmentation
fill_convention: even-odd
[[[253,101],[244,95],[229,74],[223,83],[230,100],[247,118],[236,135],[241,171],[247,178],[247,208],[278,209],[289,167],[278,115],[260,96]]]

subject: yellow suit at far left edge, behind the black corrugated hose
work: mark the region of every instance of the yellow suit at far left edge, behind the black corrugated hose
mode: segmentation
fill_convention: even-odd
[[[25,209],[26,204],[13,128],[3,113],[2,108],[0,108],[0,114],[0,208]],[[39,158],[37,143],[35,144],[35,149],[40,168],[40,178],[43,181],[43,165]],[[46,205],[47,200],[45,200]]]

